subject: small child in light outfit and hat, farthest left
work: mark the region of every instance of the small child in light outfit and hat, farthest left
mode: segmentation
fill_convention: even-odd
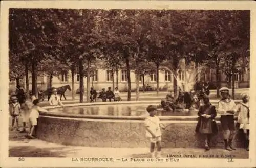
[[[16,130],[18,131],[18,116],[20,115],[20,104],[18,103],[17,97],[12,97],[11,100],[12,100],[12,103],[9,106],[10,115],[12,116],[11,131],[13,130],[15,120],[16,120],[16,124],[17,124]]]

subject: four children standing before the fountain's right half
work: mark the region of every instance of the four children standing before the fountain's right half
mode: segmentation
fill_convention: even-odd
[[[234,114],[238,113],[239,129],[244,132],[246,150],[249,151],[249,94],[242,94],[242,102],[236,105],[230,98],[229,90],[226,87],[220,89],[222,99],[219,101],[218,113],[221,118],[221,126],[223,129],[223,139],[225,142],[225,150],[236,150],[232,146],[232,140],[235,135]],[[161,130],[160,120],[156,116],[157,106],[150,105],[146,108],[149,116],[146,117],[144,124],[146,128],[146,137],[150,139],[150,152],[152,157],[161,157]],[[208,95],[203,98],[203,104],[199,108],[199,121],[196,132],[205,135],[205,149],[209,150],[210,139],[213,134],[218,132],[215,122],[217,115],[215,106],[212,106]],[[156,155],[154,153],[155,144],[157,146]]]

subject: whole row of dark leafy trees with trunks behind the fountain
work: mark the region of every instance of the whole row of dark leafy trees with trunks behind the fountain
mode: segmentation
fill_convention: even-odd
[[[218,89],[220,70],[234,79],[234,73],[245,70],[249,62],[249,11],[10,9],[9,20],[10,75],[25,75],[28,90],[31,71],[34,94],[38,65],[50,79],[60,69],[70,69],[72,90],[79,73],[82,102],[83,77],[89,101],[89,77],[98,59],[105,62],[101,68],[112,74],[125,66],[127,100],[131,100],[131,70],[136,73],[138,100],[139,74],[148,70],[156,72],[157,94],[159,69],[172,70],[177,95],[181,59],[186,67],[194,62],[196,71],[199,65],[215,68]]]

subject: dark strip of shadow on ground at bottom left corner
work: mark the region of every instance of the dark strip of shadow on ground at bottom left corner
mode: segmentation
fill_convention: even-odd
[[[10,147],[9,157],[66,157],[67,151],[63,152],[64,148]]]

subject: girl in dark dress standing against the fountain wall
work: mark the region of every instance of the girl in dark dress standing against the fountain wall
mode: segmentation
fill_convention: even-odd
[[[209,150],[210,140],[213,134],[218,132],[215,122],[216,110],[215,106],[210,104],[209,98],[205,95],[203,98],[204,105],[200,106],[198,111],[199,121],[197,123],[196,132],[203,134],[205,140],[205,149]]]

